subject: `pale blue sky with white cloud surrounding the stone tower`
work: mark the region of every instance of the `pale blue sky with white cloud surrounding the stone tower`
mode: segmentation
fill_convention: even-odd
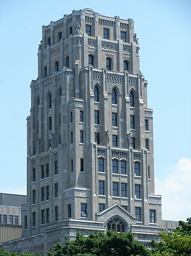
[[[26,192],[26,117],[41,27],[83,8],[134,19],[154,110],[156,192],[163,218],[185,220],[191,215],[190,0],[0,1],[0,192]]]

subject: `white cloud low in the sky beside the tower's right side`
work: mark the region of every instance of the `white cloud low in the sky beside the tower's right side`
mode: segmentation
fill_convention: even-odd
[[[191,159],[181,158],[155,186],[162,195],[162,219],[186,221],[191,216]]]

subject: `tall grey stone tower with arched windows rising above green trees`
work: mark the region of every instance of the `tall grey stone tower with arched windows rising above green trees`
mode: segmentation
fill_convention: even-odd
[[[153,239],[161,196],[133,20],[85,9],[43,26],[30,88],[24,236],[45,250],[76,231]]]

